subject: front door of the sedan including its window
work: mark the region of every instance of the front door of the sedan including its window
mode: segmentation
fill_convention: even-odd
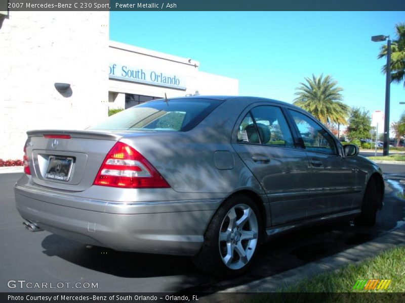
[[[311,117],[289,110],[311,169],[311,197],[307,216],[349,211],[355,192],[355,169],[343,158],[332,135]]]

